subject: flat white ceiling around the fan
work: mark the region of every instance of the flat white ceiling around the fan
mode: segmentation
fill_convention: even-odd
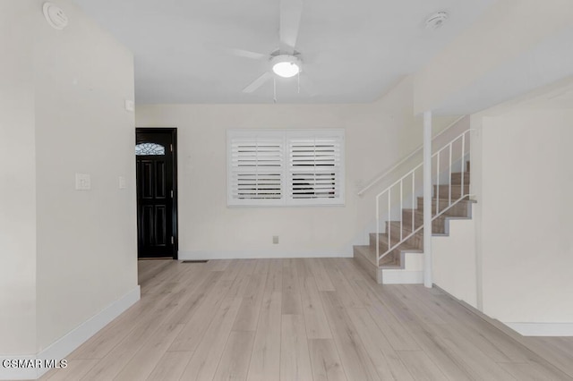
[[[279,2],[293,0],[75,0],[133,51],[135,97],[153,103],[269,103],[273,82],[242,90],[269,70]],[[495,0],[303,0],[296,50],[303,73],[277,80],[279,103],[372,101],[416,72]],[[424,20],[449,13],[440,30]]]

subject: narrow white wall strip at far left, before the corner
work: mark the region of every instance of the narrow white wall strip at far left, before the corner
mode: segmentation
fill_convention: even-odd
[[[0,2],[0,355],[36,347],[31,9],[30,2]]]

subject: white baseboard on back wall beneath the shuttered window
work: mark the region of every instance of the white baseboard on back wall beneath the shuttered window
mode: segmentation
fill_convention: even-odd
[[[195,250],[179,251],[179,260],[255,259],[255,258],[352,258],[351,250],[273,251],[273,250]]]

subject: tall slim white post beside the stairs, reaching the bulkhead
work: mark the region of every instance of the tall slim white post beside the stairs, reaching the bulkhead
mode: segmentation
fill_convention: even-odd
[[[423,113],[423,257],[423,285],[432,288],[432,111]]]

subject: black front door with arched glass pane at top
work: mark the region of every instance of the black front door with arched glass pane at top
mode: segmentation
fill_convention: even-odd
[[[177,258],[175,143],[175,129],[136,129],[139,258]]]

